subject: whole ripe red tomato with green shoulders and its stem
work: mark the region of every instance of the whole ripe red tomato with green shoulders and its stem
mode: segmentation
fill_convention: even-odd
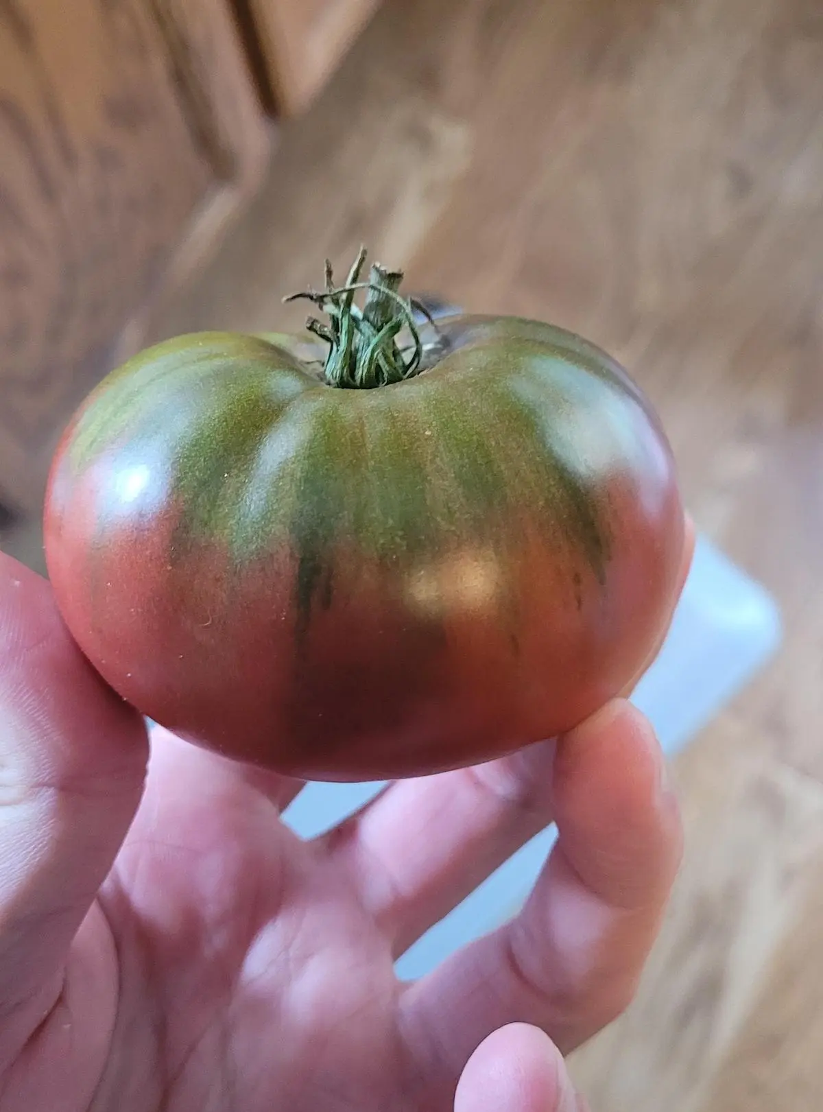
[[[361,259],[360,259],[361,262]],[[409,334],[400,276],[316,335],[141,353],[76,414],[46,503],[76,641],[142,714],[314,780],[482,762],[625,689],[684,516],[626,373],[534,320]],[[409,354],[410,353],[410,354]]]

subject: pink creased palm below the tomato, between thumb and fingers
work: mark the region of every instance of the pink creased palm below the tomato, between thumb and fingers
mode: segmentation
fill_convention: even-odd
[[[96,923],[120,954],[100,1106],[406,1108],[393,957],[356,893],[256,787],[163,741]]]

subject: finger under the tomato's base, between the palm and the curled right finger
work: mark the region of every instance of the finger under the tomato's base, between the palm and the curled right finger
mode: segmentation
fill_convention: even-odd
[[[554,744],[391,784],[321,840],[395,956],[552,821]]]

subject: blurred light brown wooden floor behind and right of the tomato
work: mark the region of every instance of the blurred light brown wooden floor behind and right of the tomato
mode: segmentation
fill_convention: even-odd
[[[598,1112],[823,1108],[823,6],[386,0],[156,335],[301,322],[364,240],[623,359],[785,649],[676,766],[687,860]]]

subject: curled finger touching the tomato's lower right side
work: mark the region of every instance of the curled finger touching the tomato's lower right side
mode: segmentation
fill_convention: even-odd
[[[681,856],[677,806],[651,726],[617,702],[558,743],[559,837],[520,914],[412,985],[404,1015],[426,1064],[459,1070],[507,1023],[566,1052],[628,1004]]]

